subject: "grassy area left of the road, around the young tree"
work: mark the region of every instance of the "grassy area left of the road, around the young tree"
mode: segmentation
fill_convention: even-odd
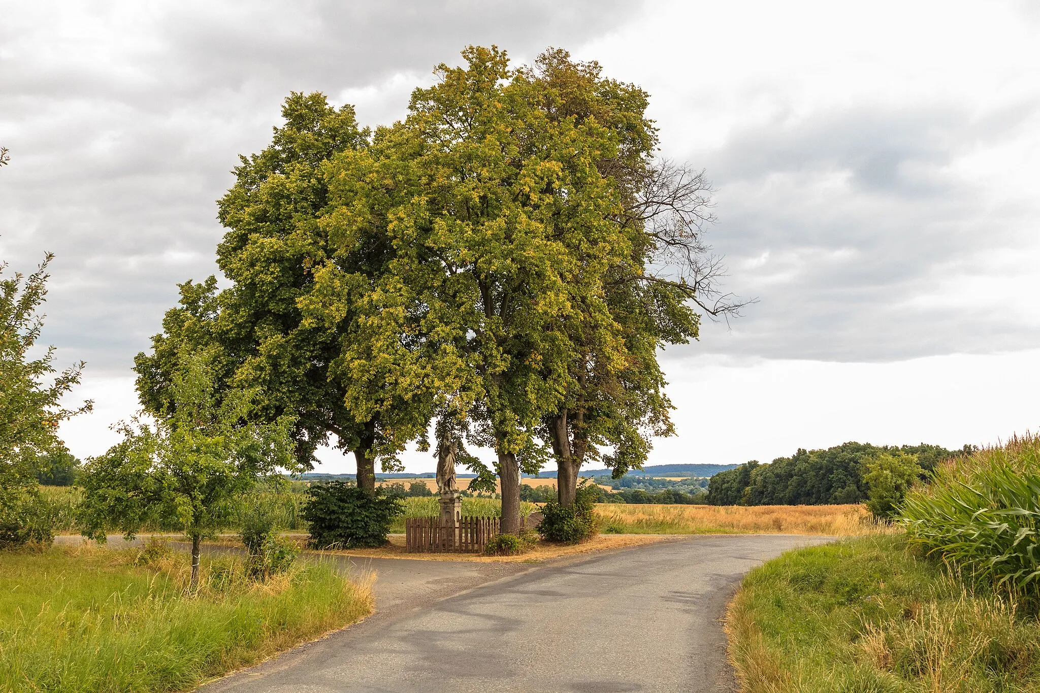
[[[148,556],[145,556],[148,558]],[[267,583],[184,554],[52,549],[0,553],[0,690],[181,691],[371,611],[366,586],[298,563]]]

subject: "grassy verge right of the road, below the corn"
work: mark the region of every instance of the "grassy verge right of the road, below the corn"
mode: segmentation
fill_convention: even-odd
[[[1040,691],[1040,622],[902,536],[788,552],[730,605],[745,693]]]

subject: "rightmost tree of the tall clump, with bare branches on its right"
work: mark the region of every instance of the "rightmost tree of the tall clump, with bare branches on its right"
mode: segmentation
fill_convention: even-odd
[[[537,88],[550,121],[597,124],[609,132],[615,145],[601,150],[595,166],[618,201],[605,220],[627,249],[601,278],[603,302],[579,302],[562,326],[576,357],[569,365],[570,387],[541,435],[552,448],[565,507],[574,502],[587,460],[602,459],[620,478],[642,467],[653,436],[674,433],[657,351],[698,337],[695,306],[729,316],[743,305],[716,289],[722,268],[702,240],[703,224],[712,218],[703,174],[655,160],[658,136],[646,116],[648,95],[601,72],[595,61],[577,62],[567,51],[549,49],[520,75]],[[613,453],[603,455],[603,447]]]

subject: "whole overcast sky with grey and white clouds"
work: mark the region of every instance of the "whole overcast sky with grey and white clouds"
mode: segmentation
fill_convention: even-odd
[[[1040,5],[1021,2],[0,2],[0,260],[56,254],[44,339],[133,412],[176,283],[216,271],[214,201],[291,90],[365,125],[467,44],[547,46],[651,94],[706,169],[727,288],[759,301],[664,354],[651,463],[1040,426]],[[353,471],[330,453],[330,471]],[[425,471],[425,456],[408,458]]]

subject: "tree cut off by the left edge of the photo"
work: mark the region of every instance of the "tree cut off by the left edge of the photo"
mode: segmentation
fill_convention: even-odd
[[[84,364],[57,373],[54,347],[29,357],[43,327],[38,311],[52,258],[47,254],[29,276],[5,277],[6,264],[0,264],[0,533],[16,543],[29,537],[24,518],[26,506],[36,500],[41,458],[67,452],[58,425],[92,407],[89,401],[76,409],[59,404],[79,384]]]

